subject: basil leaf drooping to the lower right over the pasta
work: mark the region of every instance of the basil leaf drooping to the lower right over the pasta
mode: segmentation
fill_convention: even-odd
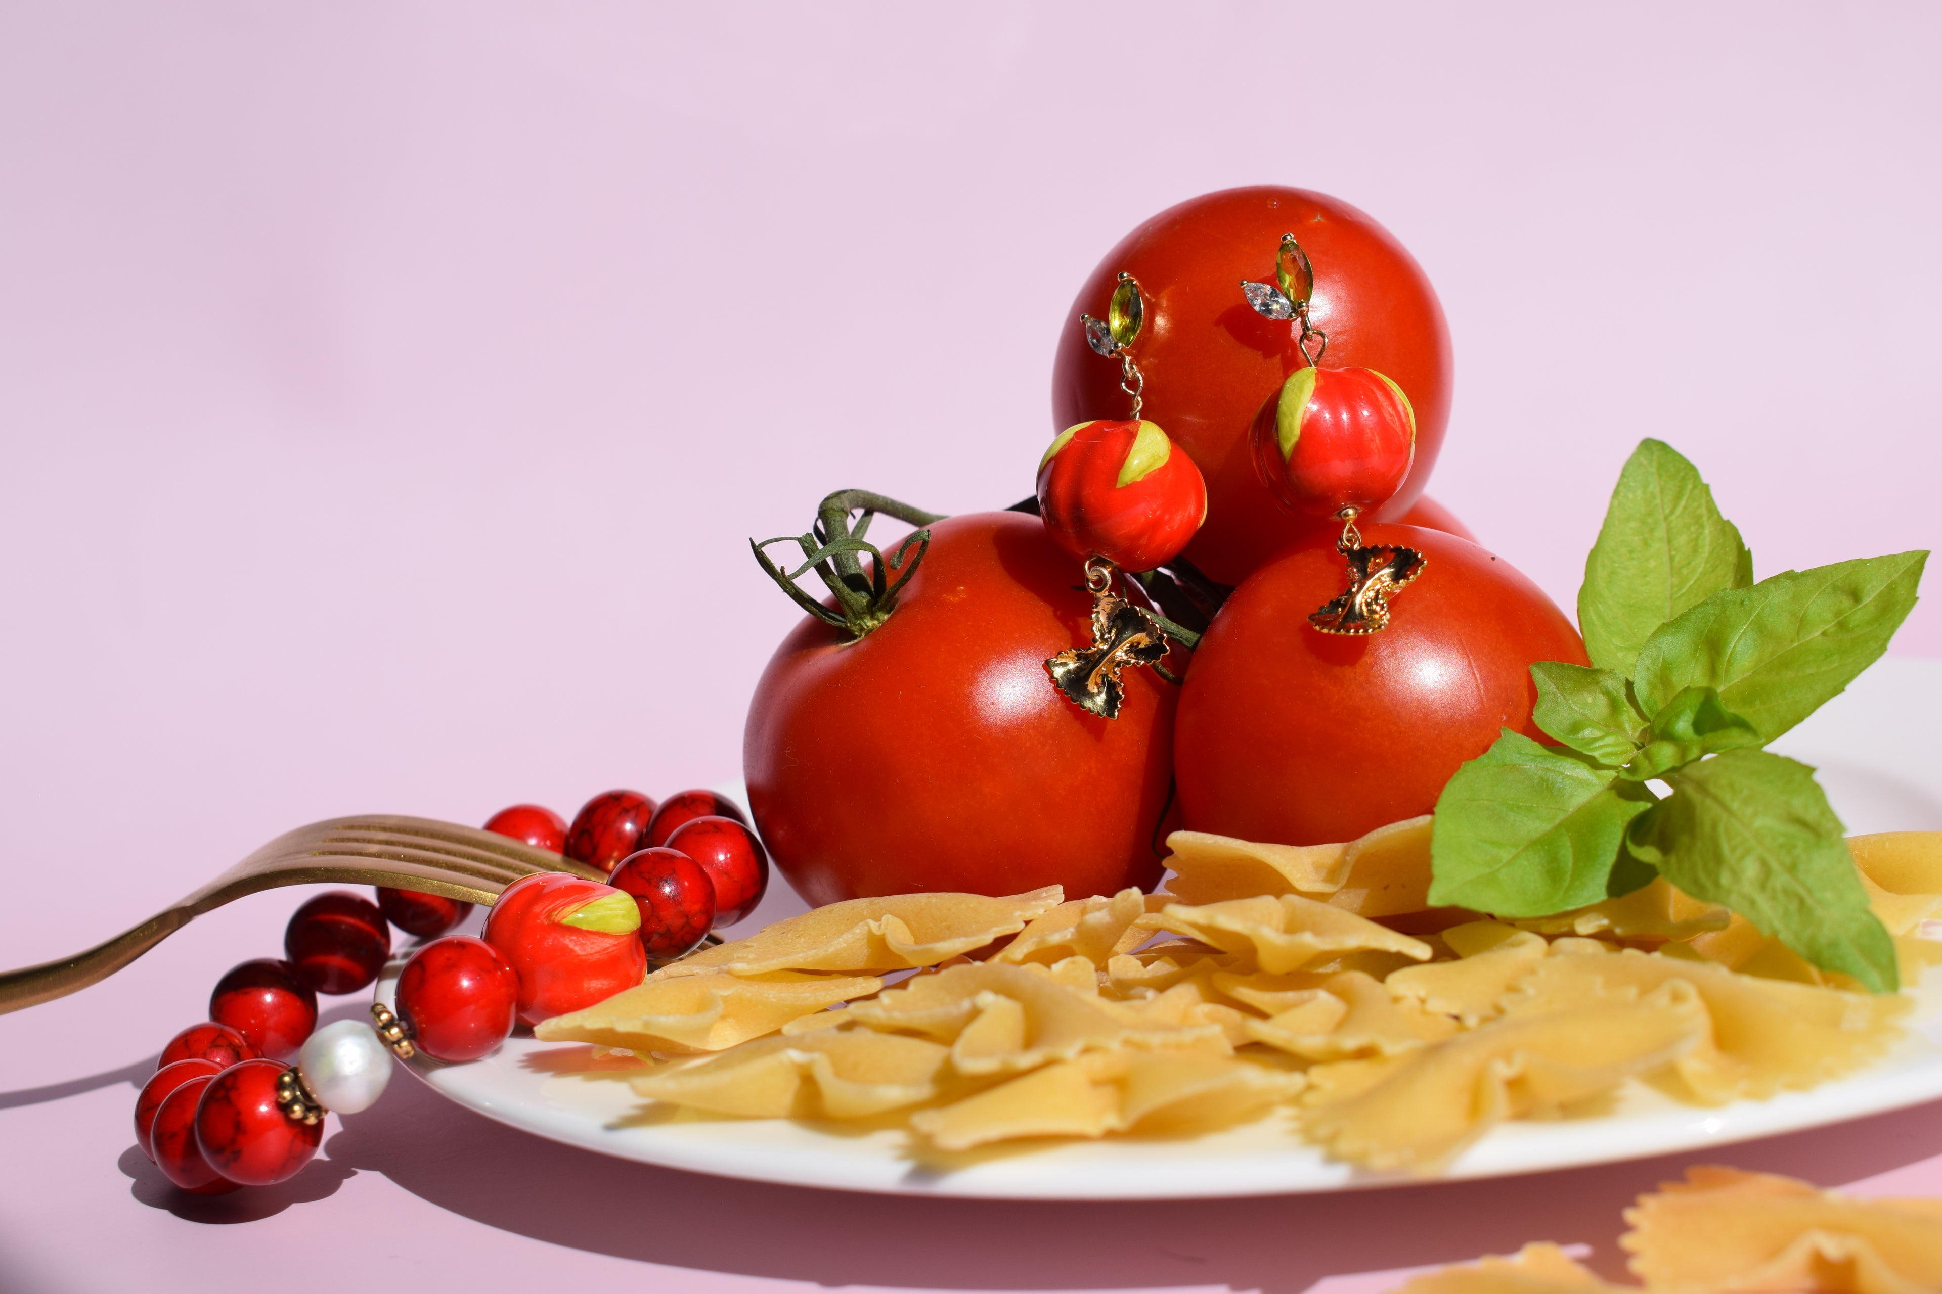
[[[1666,784],[1672,795],[1631,832],[1635,854],[1822,970],[1876,993],[1897,987],[1895,945],[1868,910],[1812,768],[1769,751],[1726,751],[1668,772]]]

